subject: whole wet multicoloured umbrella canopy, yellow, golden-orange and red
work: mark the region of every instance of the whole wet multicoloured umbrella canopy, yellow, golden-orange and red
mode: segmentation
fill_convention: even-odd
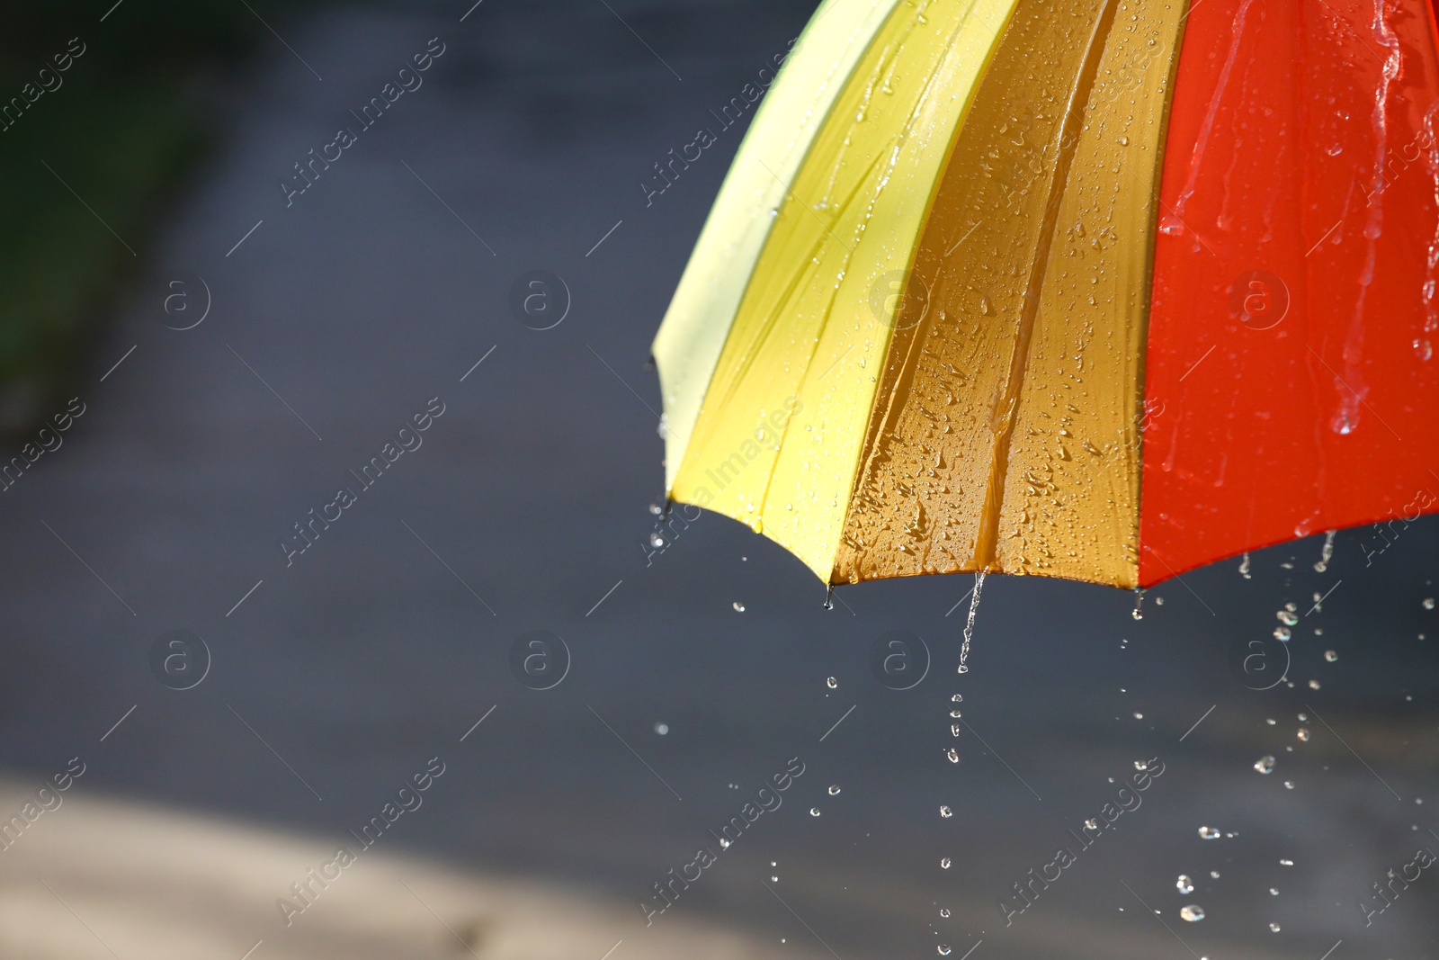
[[[655,340],[671,498],[1122,587],[1439,508],[1436,104],[1426,0],[830,0]]]

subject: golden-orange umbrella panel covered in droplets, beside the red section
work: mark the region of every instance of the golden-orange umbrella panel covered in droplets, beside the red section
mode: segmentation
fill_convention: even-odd
[[[1020,0],[886,357],[833,579],[1131,586],[1174,0]]]

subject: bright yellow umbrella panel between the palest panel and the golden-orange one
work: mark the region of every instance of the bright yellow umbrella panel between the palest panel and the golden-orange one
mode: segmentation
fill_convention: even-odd
[[[1013,0],[895,9],[776,216],[675,481],[820,577],[833,567],[908,269]]]

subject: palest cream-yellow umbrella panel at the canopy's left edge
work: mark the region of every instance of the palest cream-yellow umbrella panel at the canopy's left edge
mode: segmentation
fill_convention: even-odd
[[[665,400],[666,489],[679,472],[720,350],[774,222],[771,213],[784,200],[784,184],[794,177],[835,98],[895,1],[829,0],[814,13],[760,102],[725,176],[655,337]],[[763,82],[763,76],[757,79]],[[745,94],[753,96],[758,91],[760,83],[737,91],[738,104],[704,117],[704,130],[717,141],[732,137],[725,124],[740,122]],[[666,158],[666,163],[676,161]],[[681,158],[671,173],[684,176],[684,166]],[[650,203],[663,201],[650,197]]]

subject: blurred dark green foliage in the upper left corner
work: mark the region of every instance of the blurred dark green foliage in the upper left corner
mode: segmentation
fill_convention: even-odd
[[[69,393],[167,200],[214,141],[204,91],[269,39],[259,17],[273,24],[302,7],[112,6],[0,1],[0,104],[37,85],[42,68],[55,83],[53,58],[72,37],[85,49],[56,89],[12,112],[0,132],[0,435],[26,429]]]

